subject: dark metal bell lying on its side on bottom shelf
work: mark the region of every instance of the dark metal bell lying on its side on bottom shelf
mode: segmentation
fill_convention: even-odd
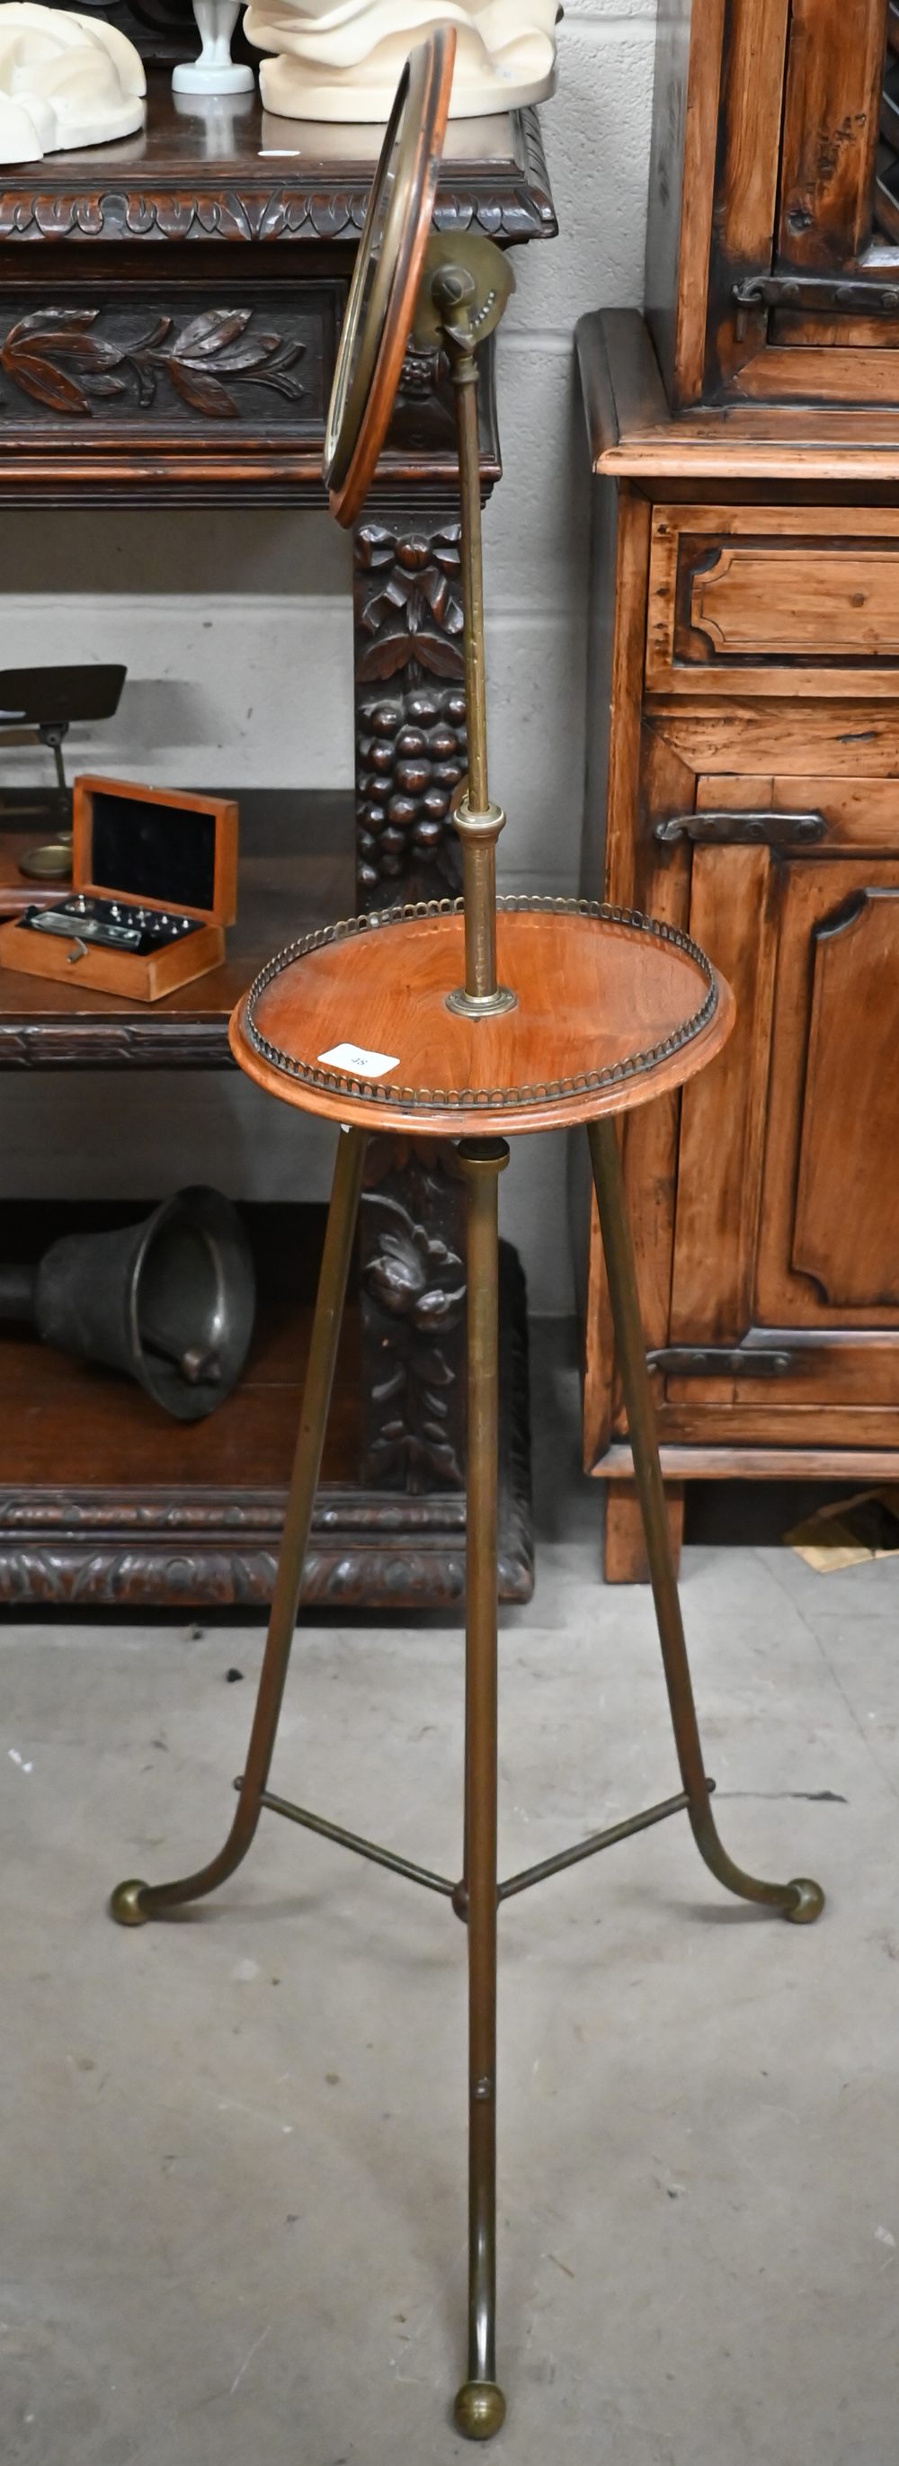
[[[249,1240],[222,1191],[175,1191],[138,1226],[67,1233],[37,1268],[0,1265],[0,1319],[106,1361],[175,1420],[214,1413],[254,1334]]]

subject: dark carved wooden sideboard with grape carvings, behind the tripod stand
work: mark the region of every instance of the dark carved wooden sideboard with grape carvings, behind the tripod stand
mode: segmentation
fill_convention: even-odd
[[[165,74],[150,72],[148,86],[145,136],[0,175],[0,501],[320,506],[323,419],[377,131],[273,121],[256,101],[222,123],[209,106],[175,111]],[[554,232],[534,113],[451,131],[436,222],[480,224],[510,247]],[[490,491],[500,456],[483,392]],[[239,557],[236,523],[234,587]],[[355,907],[456,890],[456,451],[429,358],[406,360],[355,538],[355,816],[340,797],[241,797],[227,967],[155,1009],[0,974],[0,1068],[229,1068],[227,1014],[278,944]],[[259,1339],[241,1388],[204,1425],[177,1430],[138,1391],[2,1334],[0,1598],[268,1596],[318,1221],[303,1208],[249,1216]],[[47,1226],[39,1208],[7,1208],[2,1248],[37,1253],[54,1231],[57,1211]],[[310,1598],[461,1596],[463,1309],[461,1186],[446,1154],[374,1139]],[[507,1598],[532,1583],[527,1462],[522,1277],[507,1253]]]

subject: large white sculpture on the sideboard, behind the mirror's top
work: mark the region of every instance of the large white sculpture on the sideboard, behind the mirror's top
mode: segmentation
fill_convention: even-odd
[[[291,121],[387,121],[411,47],[456,27],[451,118],[539,104],[554,89],[557,0],[251,0],[246,35],[276,52],[266,111]]]

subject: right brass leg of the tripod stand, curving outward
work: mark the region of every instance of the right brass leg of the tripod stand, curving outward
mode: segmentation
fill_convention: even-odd
[[[658,1460],[653,1386],[645,1366],[640,1295],[633,1265],[621,1149],[613,1120],[591,1122],[586,1137],[591,1147],[599,1226],[606,1253],[606,1275],[608,1275],[611,1314],[616,1324],[621,1386],[628,1408],[633,1477],[640,1494],[667,1702],[675,1729],[682,1785],[690,1800],[692,1837],[704,1857],[704,1864],[712,1867],[712,1874],[717,1874],[719,1884],[727,1884],[729,1891],[741,1894],[744,1901],[771,1901],[771,1906],[781,1909],[786,1919],[793,1919],[796,1923],[805,1926],[810,1923],[810,1919],[818,1919],[825,1906],[820,1884],[813,1884],[808,1877],[793,1877],[791,1884],[761,1884],[759,1877],[744,1874],[741,1867],[734,1867],[734,1859],[727,1854],[714,1827],[709,1783],[702,1763],[697,1709],[692,1702],[692,1679],[690,1679],[685,1628],[680,1615],[677,1576],[670,1549],[663,1467]]]

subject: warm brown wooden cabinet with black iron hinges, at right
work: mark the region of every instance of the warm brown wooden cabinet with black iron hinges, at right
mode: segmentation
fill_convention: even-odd
[[[626,1142],[680,1536],[699,1475],[899,1472],[897,7],[663,10],[648,316],[579,355],[584,890],[685,925],[739,1001]],[[640,1576],[596,1238],[586,1462],[606,1576]]]

